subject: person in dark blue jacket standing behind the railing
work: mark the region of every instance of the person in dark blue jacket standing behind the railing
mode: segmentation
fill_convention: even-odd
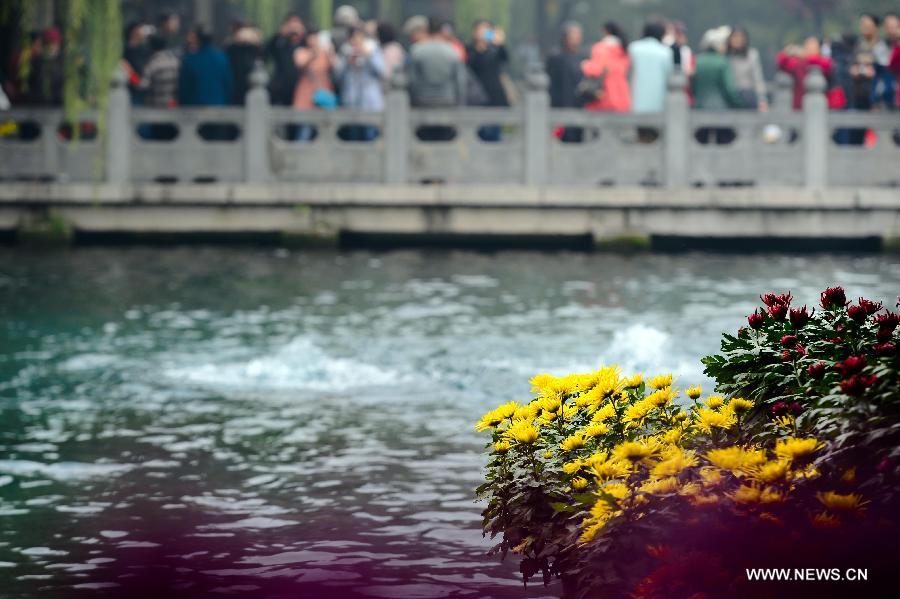
[[[234,95],[234,77],[228,56],[212,45],[202,27],[187,34],[187,53],[178,75],[181,106],[225,106]]]

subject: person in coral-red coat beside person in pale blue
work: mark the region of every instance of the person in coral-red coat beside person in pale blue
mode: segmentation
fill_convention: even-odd
[[[581,63],[581,72],[585,77],[602,82],[585,109],[610,112],[631,110],[631,88],[628,85],[631,61],[626,44],[621,27],[611,22],[603,26],[603,37],[591,48],[591,57]]]

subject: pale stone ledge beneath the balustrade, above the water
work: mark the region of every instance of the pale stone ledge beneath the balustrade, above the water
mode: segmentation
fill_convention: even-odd
[[[586,237],[594,244],[695,239],[900,240],[885,188],[576,188],[311,184],[0,186],[0,230]]]

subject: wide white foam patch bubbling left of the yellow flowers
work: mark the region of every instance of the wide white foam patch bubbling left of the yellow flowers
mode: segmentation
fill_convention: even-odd
[[[275,353],[245,361],[201,363],[165,371],[178,381],[216,389],[346,391],[385,386],[400,375],[350,358],[329,356],[312,341],[297,338]]]

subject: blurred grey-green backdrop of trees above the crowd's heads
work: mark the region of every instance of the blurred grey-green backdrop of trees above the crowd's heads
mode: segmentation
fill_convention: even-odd
[[[0,3],[0,64],[13,52],[15,15],[30,12],[33,29],[62,23],[71,0],[3,0]],[[775,72],[775,54],[788,43],[800,43],[808,35],[838,38],[855,31],[858,16],[897,10],[892,0],[757,0],[755,2],[709,2],[708,0],[122,0],[122,22],[152,22],[160,13],[175,12],[188,23],[207,25],[215,40],[228,36],[235,20],[256,23],[265,34],[273,33],[282,17],[297,12],[305,22],[320,28],[331,25],[339,4],[357,8],[364,19],[391,21],[396,25],[417,14],[452,21],[467,33],[476,18],[487,18],[506,30],[513,50],[512,73],[521,76],[525,65],[551,52],[558,45],[560,26],[577,21],[588,41],[600,37],[605,21],[614,20],[636,37],[644,20],[658,15],[682,21],[691,43],[704,31],[723,23],[743,26],[759,49],[766,75]],[[99,11],[98,11],[99,12]],[[91,16],[102,18],[102,15]]]

